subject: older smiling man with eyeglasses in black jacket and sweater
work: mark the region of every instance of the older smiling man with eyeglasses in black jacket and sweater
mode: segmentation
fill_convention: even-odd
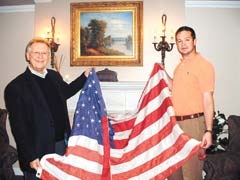
[[[25,180],[37,180],[36,170],[45,154],[63,155],[70,135],[66,100],[84,85],[91,68],[71,83],[47,69],[50,46],[34,38],[26,46],[25,72],[5,88],[4,98]]]

